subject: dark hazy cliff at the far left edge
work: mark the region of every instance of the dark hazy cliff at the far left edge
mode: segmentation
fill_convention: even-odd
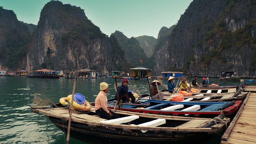
[[[20,22],[13,11],[0,7],[0,68],[16,71],[14,67],[23,62],[29,42],[30,32],[26,24]]]

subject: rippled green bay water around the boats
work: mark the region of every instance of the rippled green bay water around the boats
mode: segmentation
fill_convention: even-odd
[[[199,80],[200,79],[200,80]],[[197,82],[201,82],[198,78]],[[192,79],[191,79],[192,80]],[[212,79],[210,79],[212,80]],[[241,84],[242,82],[220,82],[222,85]],[[83,94],[89,102],[94,102],[99,93],[99,83],[109,84],[108,98],[116,94],[115,81],[112,78],[103,79],[78,79],[76,80],[75,93]],[[121,83],[121,79],[117,79]],[[255,82],[244,81],[250,85]],[[167,80],[162,80],[167,84]],[[177,83],[174,81],[174,83]],[[129,80],[129,86],[138,87],[140,94],[148,94],[147,80]],[[25,76],[0,76],[0,143],[3,144],[65,144],[66,135],[52,122],[47,121],[45,115],[34,114],[30,107],[36,92],[47,96],[53,103],[59,103],[59,99],[72,94],[74,79],[37,79]],[[160,86],[161,90],[162,87]],[[221,135],[215,135],[208,144],[219,144]],[[83,143],[70,138],[69,143]]]

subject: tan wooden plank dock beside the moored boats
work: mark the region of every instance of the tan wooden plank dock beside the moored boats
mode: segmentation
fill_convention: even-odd
[[[221,138],[221,144],[256,144],[256,86],[249,92],[240,110]]]

